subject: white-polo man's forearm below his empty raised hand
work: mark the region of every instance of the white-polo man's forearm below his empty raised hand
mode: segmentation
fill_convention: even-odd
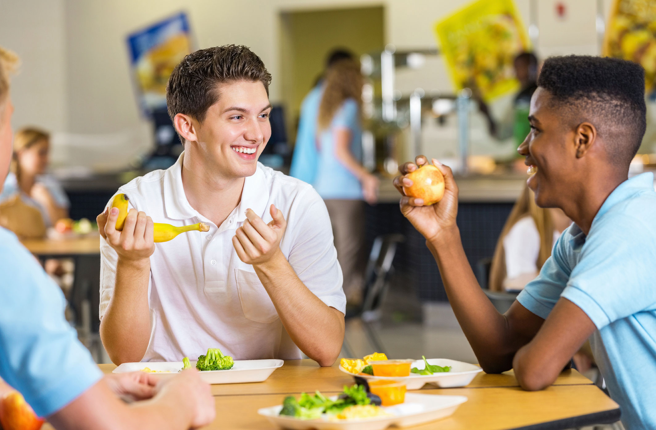
[[[314,295],[282,253],[253,267],[294,343],[319,365],[332,366],[344,341],[344,314]]]

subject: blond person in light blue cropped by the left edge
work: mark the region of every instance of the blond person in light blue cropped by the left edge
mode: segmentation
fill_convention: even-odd
[[[17,61],[0,47],[1,179],[12,154],[8,74]],[[5,228],[0,272],[0,377],[56,429],[183,430],[214,419],[209,385],[195,370],[166,381],[141,372],[103,376],[64,319],[62,291]],[[129,406],[119,396],[144,401]]]

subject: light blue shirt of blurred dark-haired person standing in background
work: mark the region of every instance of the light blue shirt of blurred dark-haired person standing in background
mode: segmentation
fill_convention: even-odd
[[[291,159],[289,175],[312,184],[317,175],[319,154],[317,152],[317,118],[319,104],[323,95],[323,85],[319,84],[308,93],[300,105],[298,133]]]

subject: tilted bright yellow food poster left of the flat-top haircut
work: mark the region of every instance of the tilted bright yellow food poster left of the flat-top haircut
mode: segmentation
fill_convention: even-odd
[[[518,88],[512,69],[529,38],[512,0],[479,0],[435,24],[456,90],[471,88],[484,100]]]

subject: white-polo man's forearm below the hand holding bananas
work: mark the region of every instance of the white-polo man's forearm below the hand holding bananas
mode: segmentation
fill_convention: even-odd
[[[150,340],[148,279],[150,259],[116,264],[110,303],[100,322],[100,336],[115,364],[140,361]]]

